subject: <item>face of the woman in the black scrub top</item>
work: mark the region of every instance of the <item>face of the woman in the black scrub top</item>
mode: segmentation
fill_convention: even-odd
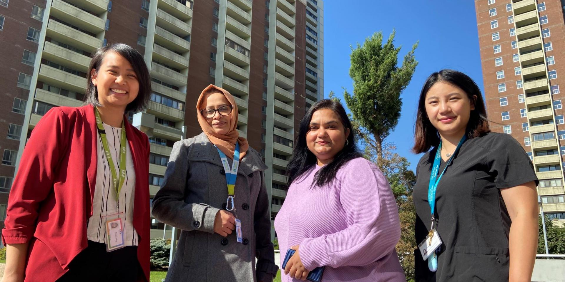
[[[473,95],[473,99],[477,96]],[[442,136],[464,134],[475,101],[457,86],[437,82],[425,95],[425,111],[429,121]]]

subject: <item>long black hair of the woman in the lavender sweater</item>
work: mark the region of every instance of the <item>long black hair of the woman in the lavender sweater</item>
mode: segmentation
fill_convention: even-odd
[[[316,164],[316,156],[314,153],[310,152],[306,144],[306,134],[310,131],[312,115],[319,109],[331,109],[336,113],[340,117],[341,123],[344,125],[345,129],[349,129],[349,136],[347,137],[344,148],[334,156],[329,164],[325,165],[316,173],[312,184],[315,183],[318,186],[322,186],[331,182],[336,177],[337,170],[339,170],[342,165],[353,158],[362,157],[362,155],[357,152],[353,126],[351,126],[351,122],[349,121],[349,117],[347,117],[347,113],[345,113],[344,107],[340,102],[329,99],[320,100],[312,105],[300,121],[298,137],[294,142],[292,157],[290,157],[290,161],[288,165],[286,165],[286,177],[288,177],[286,189],[288,189],[294,180]]]

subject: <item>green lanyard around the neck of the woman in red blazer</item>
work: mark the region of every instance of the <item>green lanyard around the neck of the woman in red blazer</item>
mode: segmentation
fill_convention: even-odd
[[[125,122],[121,122],[121,138],[120,138],[120,175],[116,175],[116,168],[114,168],[114,161],[112,161],[112,155],[110,155],[110,148],[108,147],[108,140],[106,139],[106,130],[102,125],[102,119],[100,118],[100,113],[98,109],[94,107],[94,112],[96,113],[96,125],[98,126],[98,134],[102,138],[102,147],[104,147],[104,152],[106,153],[106,158],[108,159],[108,166],[110,166],[110,172],[112,174],[112,182],[114,182],[114,188],[116,189],[116,208],[118,208],[118,199],[120,197],[121,187],[124,185],[125,180]]]

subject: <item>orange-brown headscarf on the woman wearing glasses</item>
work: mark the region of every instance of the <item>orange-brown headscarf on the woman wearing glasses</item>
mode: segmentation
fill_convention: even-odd
[[[215,89],[217,91],[210,92],[210,89]],[[200,110],[204,108],[202,107],[202,104],[205,103],[204,94],[207,92],[210,94],[214,94],[214,93],[224,94],[225,98],[228,99],[228,102],[232,104],[233,110],[232,113],[229,114],[229,116],[232,118],[231,128],[229,129],[229,133],[227,134],[216,133],[216,131],[212,129],[212,126],[208,124],[206,118],[203,117],[202,114],[200,113]],[[202,93],[198,97],[198,102],[196,102],[196,112],[198,116],[198,124],[200,124],[202,131],[204,131],[206,136],[208,136],[208,139],[210,139],[210,142],[212,142],[212,144],[218,147],[222,152],[224,152],[226,156],[228,156],[233,160],[233,153],[236,150],[236,142],[239,142],[240,160],[244,158],[245,152],[247,152],[247,148],[249,148],[249,143],[247,143],[247,139],[240,137],[240,133],[237,132],[236,130],[238,112],[237,112],[236,100],[233,99],[232,94],[229,94],[228,91],[225,91],[224,89],[215,86],[213,84],[208,85],[204,90],[202,90]]]

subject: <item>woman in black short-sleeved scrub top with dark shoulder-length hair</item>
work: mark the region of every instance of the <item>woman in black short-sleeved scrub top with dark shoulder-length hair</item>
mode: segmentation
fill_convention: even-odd
[[[412,150],[426,152],[414,186],[416,243],[432,228],[428,190],[436,158],[433,228],[442,241],[437,271],[415,250],[416,281],[531,281],[538,241],[536,173],[512,136],[490,132],[481,92],[470,77],[449,69],[428,77]]]

